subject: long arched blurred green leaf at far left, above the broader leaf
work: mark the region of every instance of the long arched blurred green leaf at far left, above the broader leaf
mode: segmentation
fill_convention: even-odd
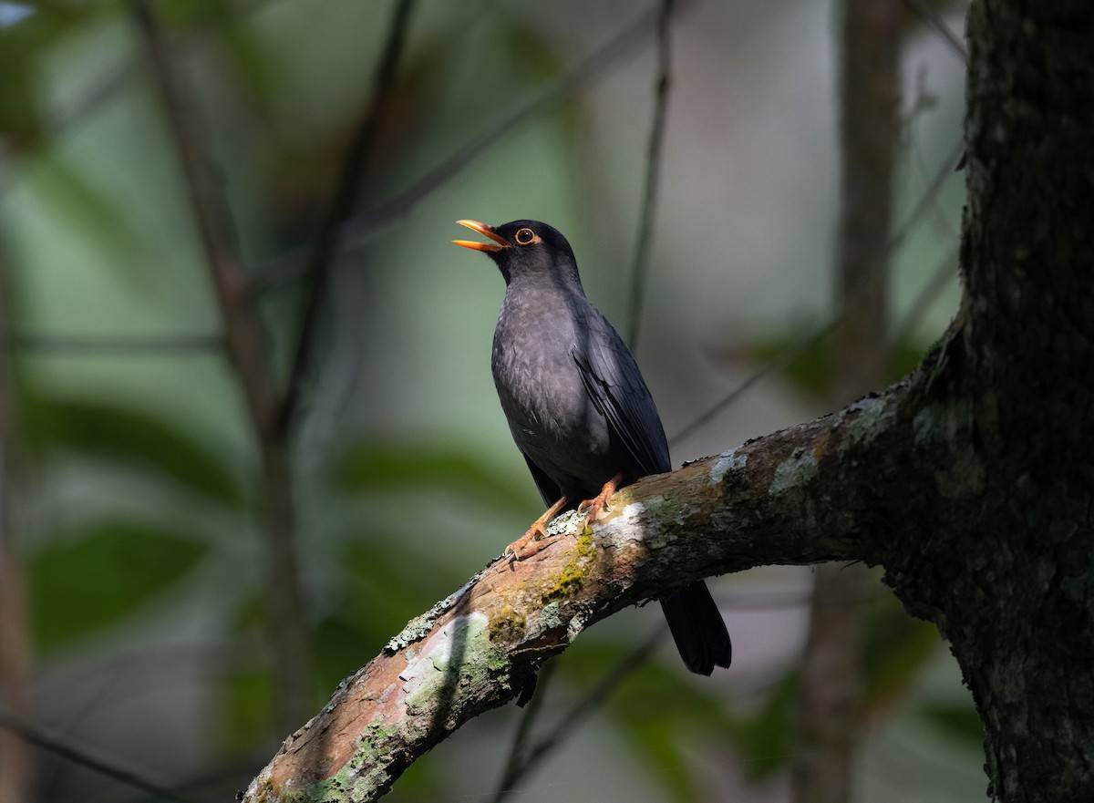
[[[69,450],[152,470],[183,487],[237,507],[244,494],[216,454],[152,414],[86,400],[27,398],[27,441],[43,451]]]

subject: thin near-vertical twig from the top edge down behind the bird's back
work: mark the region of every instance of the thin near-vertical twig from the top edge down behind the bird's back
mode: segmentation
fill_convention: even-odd
[[[665,139],[665,120],[668,116],[668,89],[672,81],[672,37],[670,22],[675,0],[662,0],[657,18],[657,77],[653,89],[653,124],[645,156],[645,187],[642,190],[642,211],[638,225],[638,246],[635,249],[635,268],[630,286],[630,331],[627,342],[631,351],[638,349],[638,334],[642,324],[642,306],[650,268],[650,242],[653,236],[653,216],[657,203],[661,158]]]

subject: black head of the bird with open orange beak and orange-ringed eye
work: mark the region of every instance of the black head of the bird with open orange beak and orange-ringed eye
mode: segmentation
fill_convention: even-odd
[[[476,220],[456,221],[481,234],[489,243],[453,240],[456,245],[486,253],[497,263],[505,283],[524,277],[540,277],[554,281],[575,281],[578,263],[573,249],[557,229],[538,220],[514,220],[499,226]]]

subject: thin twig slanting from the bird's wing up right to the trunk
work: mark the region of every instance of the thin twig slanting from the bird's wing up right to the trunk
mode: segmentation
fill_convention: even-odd
[[[961,156],[964,151],[964,146],[958,143],[958,147],[950,154],[950,156],[942,163],[939,172],[935,174],[930,186],[924,190],[923,196],[916,203],[915,208],[908,214],[908,219],[904,224],[886,241],[885,248],[881,256],[875,259],[871,265],[871,270],[880,270],[887,263],[888,255],[904,242],[904,238],[909,232],[916,226],[920,221],[927,210],[930,208],[931,202],[934,197],[942,189],[942,185],[945,179],[953,175],[953,165]],[[728,407],[730,407],[734,401],[736,401],[741,396],[743,396],[749,388],[752,388],[760,380],[766,379],[770,374],[779,373],[788,365],[790,365],[794,360],[801,357],[808,348],[818,342],[822,338],[827,336],[842,322],[843,317],[847,315],[850,306],[853,305],[865,292],[865,288],[860,288],[859,292],[851,296],[850,303],[845,303],[836,313],[824,324],[806,333],[804,336],[800,337],[794,342],[787,346],[779,354],[772,358],[768,363],[761,365],[755,372],[753,372],[744,382],[730,391],[726,395],[722,396],[718,401],[708,407],[702,414],[694,418],[683,429],[677,431],[672,438],[668,439],[670,445],[678,443],[688,435],[695,433],[711,420],[717,418],[721,412],[723,412]]]

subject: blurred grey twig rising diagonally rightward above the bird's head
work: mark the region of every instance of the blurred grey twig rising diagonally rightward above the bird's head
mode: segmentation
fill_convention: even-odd
[[[618,66],[621,59],[630,55],[635,47],[654,30],[657,16],[655,11],[642,14],[603,47],[582,60],[573,70],[556,81],[543,94],[516,108],[493,128],[465,143],[401,193],[345,223],[340,232],[344,252],[361,247],[377,232],[409,214],[419,201],[458,175],[514,128],[535,115],[563,103],[606,74],[610,68]],[[294,254],[275,257],[252,281],[251,290],[252,292],[265,291],[298,276],[302,269]]]

